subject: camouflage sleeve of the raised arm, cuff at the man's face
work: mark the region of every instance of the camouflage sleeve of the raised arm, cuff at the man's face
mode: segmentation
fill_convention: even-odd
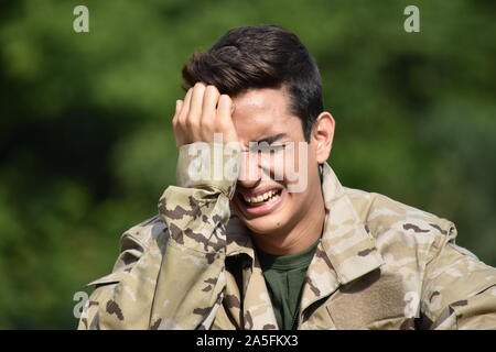
[[[154,227],[125,234],[114,273],[94,282],[80,329],[209,328],[225,286],[225,227],[238,156],[220,144],[181,147],[177,186],[160,198]],[[223,172],[209,174],[218,165]]]

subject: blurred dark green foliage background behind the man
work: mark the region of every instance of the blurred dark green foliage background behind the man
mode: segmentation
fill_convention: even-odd
[[[89,8],[86,34],[73,9]],[[420,8],[421,32],[403,31]],[[496,265],[494,1],[10,0],[0,4],[0,328],[73,329],[73,296],[174,183],[180,69],[274,23],[316,57],[342,183],[453,220]]]

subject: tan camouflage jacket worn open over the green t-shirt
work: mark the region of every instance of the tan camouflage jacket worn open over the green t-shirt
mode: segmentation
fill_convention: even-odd
[[[230,216],[235,183],[190,179],[187,148],[158,216],[126,231],[112,273],[88,284],[79,329],[278,329]],[[496,329],[496,270],[455,244],[452,222],[343,187],[327,164],[323,195],[298,329]]]

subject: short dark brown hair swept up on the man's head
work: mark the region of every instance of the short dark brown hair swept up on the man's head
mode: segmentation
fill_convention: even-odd
[[[287,88],[291,112],[310,132],[323,111],[321,75],[314,58],[293,33],[270,24],[229,30],[205,53],[184,65],[183,88],[197,81],[236,97],[251,88]]]

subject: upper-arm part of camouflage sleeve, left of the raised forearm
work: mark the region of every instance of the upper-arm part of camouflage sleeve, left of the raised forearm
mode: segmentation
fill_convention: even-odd
[[[147,329],[154,282],[166,237],[158,217],[126,231],[112,273],[87,286],[95,290],[85,306],[78,329]]]

